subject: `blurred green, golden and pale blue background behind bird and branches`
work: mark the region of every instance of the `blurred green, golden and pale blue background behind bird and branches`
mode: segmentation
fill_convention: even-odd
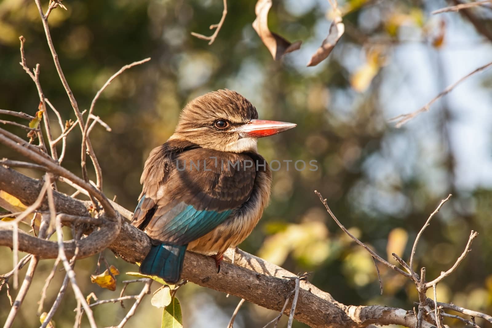
[[[470,230],[478,231],[472,252],[458,272],[438,285],[437,295],[441,301],[492,313],[491,71],[466,80],[400,129],[388,122],[419,109],[447,85],[490,61],[490,40],[460,13],[431,15],[448,5],[446,1],[341,0],[346,32],[327,60],[307,68],[328,33],[328,1],[274,1],[271,30],[291,41],[304,41],[301,50],[280,61],[272,60],[251,27],[255,1],[228,2],[229,13],[211,46],[190,32],[212,34],[208,27],[220,19],[220,0],[69,0],[63,1],[67,11],[57,8],[51,14],[53,41],[81,109],[89,108],[95,92],[121,66],[152,57],[118,77],[96,104],[95,114],[112,128],[106,132],[96,126],[91,135],[106,195],[117,195],[121,205],[133,209],[144,161],[173,133],[180,109],[207,91],[234,89],[256,106],[260,118],[298,124],[259,141],[267,160],[316,160],[319,166],[314,172],[299,172],[282,165],[273,173],[271,205],[242,249],[292,272],[313,271],[309,280],[345,304],[411,309],[417,300],[414,285],[380,266],[384,286],[380,295],[368,253],[340,231],[313,190],[328,199],[355,236],[390,261],[392,252],[409,257],[429,214],[452,193],[421,239],[417,264],[427,268],[428,278],[435,277],[461,254]],[[491,7],[474,9],[472,14],[484,29],[492,30]],[[35,86],[18,64],[20,35],[27,40],[28,65],[41,65],[46,97],[64,119],[75,120],[33,1],[0,1],[0,108],[31,115],[37,110]],[[58,133],[56,121],[52,126]],[[64,166],[77,174],[80,140],[76,128],[64,160]],[[21,159],[0,149],[1,157]],[[1,248],[0,254],[1,271],[6,272],[12,268],[11,251]],[[109,250],[105,254],[122,272],[116,292],[91,284],[96,257],[76,266],[84,293],[94,292],[100,299],[118,297],[121,281],[129,278],[124,272],[137,271]],[[36,302],[52,263],[39,265],[15,327],[39,324]],[[45,311],[63,275],[56,273]],[[130,285],[127,295],[139,288]],[[185,327],[198,328],[226,327],[239,301],[191,283],[178,297]],[[9,307],[2,290],[0,322]],[[69,288],[54,317],[58,328],[72,327],[75,307]],[[95,308],[94,314],[103,327],[119,323],[125,311],[118,304],[107,304]],[[245,304],[234,327],[262,327],[275,315]],[[160,327],[160,319],[161,310],[147,297],[127,327]],[[306,326],[296,322],[295,327]]]

